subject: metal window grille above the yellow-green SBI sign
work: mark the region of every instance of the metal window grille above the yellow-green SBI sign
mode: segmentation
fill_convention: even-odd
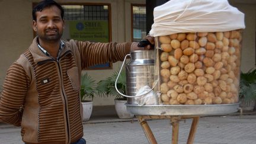
[[[64,20],[108,20],[108,5],[62,5]]]

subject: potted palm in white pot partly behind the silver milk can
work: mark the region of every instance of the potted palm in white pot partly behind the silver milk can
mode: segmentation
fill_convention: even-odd
[[[100,96],[110,96],[115,95],[115,108],[119,119],[132,119],[134,114],[130,113],[126,110],[125,103],[127,102],[127,98],[120,95],[115,88],[116,78],[119,72],[114,72],[113,75],[108,78],[101,80],[97,84],[97,91]],[[125,71],[121,71],[119,79],[117,81],[117,89],[122,94],[126,94],[126,73]]]

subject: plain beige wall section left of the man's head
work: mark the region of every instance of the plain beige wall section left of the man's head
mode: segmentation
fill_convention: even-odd
[[[33,40],[30,1],[0,1],[0,84],[15,59]]]

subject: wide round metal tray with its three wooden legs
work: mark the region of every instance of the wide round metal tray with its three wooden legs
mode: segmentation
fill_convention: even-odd
[[[178,144],[179,123],[182,119],[193,119],[187,144],[194,142],[197,124],[201,116],[220,116],[238,111],[239,103],[216,105],[129,105],[127,110],[136,115],[148,142],[155,144],[156,139],[146,120],[169,119],[172,124],[172,144]]]

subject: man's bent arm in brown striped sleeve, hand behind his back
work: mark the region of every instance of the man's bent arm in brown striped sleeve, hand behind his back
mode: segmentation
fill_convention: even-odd
[[[0,99],[0,121],[20,126],[28,76],[23,67],[14,63],[7,71]]]

